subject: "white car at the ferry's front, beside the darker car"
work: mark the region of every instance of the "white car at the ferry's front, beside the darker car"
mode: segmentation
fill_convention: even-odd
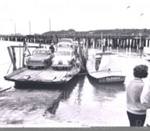
[[[76,62],[76,55],[71,49],[58,49],[52,59],[53,69],[71,69]]]

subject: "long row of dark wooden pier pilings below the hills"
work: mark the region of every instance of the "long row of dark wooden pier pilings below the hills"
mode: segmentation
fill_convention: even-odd
[[[73,38],[74,40],[80,41],[81,39],[88,43],[89,48],[101,48],[105,46],[107,48],[118,48],[118,49],[143,49],[144,47],[150,46],[150,38],[144,36],[138,37],[114,37],[114,36],[63,36],[66,38]],[[62,38],[60,35],[55,36],[0,36],[0,40],[4,41],[26,41],[29,43],[41,43],[51,44],[57,43]]]

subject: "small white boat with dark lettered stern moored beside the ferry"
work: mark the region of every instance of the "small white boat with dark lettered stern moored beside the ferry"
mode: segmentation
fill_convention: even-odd
[[[124,82],[125,74],[119,67],[118,55],[112,52],[98,52],[86,64],[89,76],[99,83]]]

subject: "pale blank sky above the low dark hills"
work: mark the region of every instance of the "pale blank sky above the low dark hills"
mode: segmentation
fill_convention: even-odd
[[[0,0],[0,34],[150,29],[150,0]]]

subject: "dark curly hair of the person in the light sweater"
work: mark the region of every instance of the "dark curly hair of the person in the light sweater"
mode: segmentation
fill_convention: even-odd
[[[148,75],[148,66],[147,65],[137,65],[133,69],[134,77],[146,78]]]

